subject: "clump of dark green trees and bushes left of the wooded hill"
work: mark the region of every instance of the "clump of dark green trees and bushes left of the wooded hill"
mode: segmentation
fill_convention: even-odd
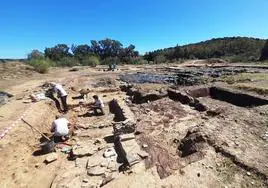
[[[57,44],[44,52],[33,50],[28,62],[38,72],[46,72],[50,66],[96,66],[98,64],[138,64],[142,59],[133,44],[128,47],[113,39],[92,40],[90,44]],[[40,70],[38,70],[40,69]]]

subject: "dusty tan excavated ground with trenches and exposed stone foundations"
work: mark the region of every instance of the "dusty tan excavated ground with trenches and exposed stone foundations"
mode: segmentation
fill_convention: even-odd
[[[0,106],[0,134],[8,130],[0,140],[0,187],[268,186],[268,66],[201,61],[104,68],[40,75],[19,63],[1,65],[1,91],[14,97]],[[68,141],[74,161],[63,152],[71,147],[59,146],[58,159],[45,164],[49,154],[36,152],[40,135],[21,121],[49,132],[58,114],[54,102],[28,98],[49,81],[69,94],[65,116],[78,126]],[[83,88],[90,89],[85,100],[78,97]],[[87,116],[78,106],[94,94],[105,102],[104,116]],[[117,157],[103,156],[109,148]],[[137,159],[127,169],[118,161],[126,157],[122,148],[129,163]]]

